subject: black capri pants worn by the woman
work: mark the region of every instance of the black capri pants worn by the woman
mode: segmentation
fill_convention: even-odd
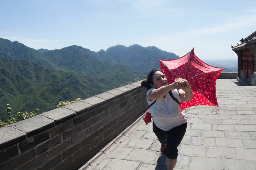
[[[169,131],[164,131],[158,128],[153,122],[153,131],[160,143],[166,143],[164,150],[165,156],[169,159],[178,158],[178,146],[181,143],[187,129],[187,122],[172,128]]]

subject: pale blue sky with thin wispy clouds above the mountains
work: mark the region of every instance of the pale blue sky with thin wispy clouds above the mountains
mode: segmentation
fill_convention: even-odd
[[[237,59],[231,45],[255,31],[255,0],[0,0],[0,38],[33,49],[139,44]]]

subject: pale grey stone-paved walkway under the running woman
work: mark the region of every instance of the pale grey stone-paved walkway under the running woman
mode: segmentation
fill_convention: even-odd
[[[256,170],[256,86],[217,79],[219,107],[185,109],[175,170]],[[152,124],[140,117],[79,170],[166,170]]]

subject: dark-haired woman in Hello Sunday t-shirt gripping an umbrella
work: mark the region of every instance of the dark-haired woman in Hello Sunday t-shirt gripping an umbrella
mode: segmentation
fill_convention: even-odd
[[[148,90],[148,104],[155,102],[149,109],[153,116],[153,131],[162,144],[161,149],[164,149],[167,170],[172,170],[177,163],[177,147],[185,135],[187,119],[169,91],[179,102],[187,102],[192,99],[190,85],[182,78],[167,84],[165,75],[159,69],[152,70],[141,84]]]

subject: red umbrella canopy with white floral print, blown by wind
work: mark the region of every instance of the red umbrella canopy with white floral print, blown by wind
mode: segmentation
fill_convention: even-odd
[[[194,48],[178,59],[158,61],[168,84],[176,78],[186,79],[190,84],[193,98],[188,102],[181,102],[181,110],[196,105],[218,106],[215,86],[224,68],[204,63],[194,54]]]

